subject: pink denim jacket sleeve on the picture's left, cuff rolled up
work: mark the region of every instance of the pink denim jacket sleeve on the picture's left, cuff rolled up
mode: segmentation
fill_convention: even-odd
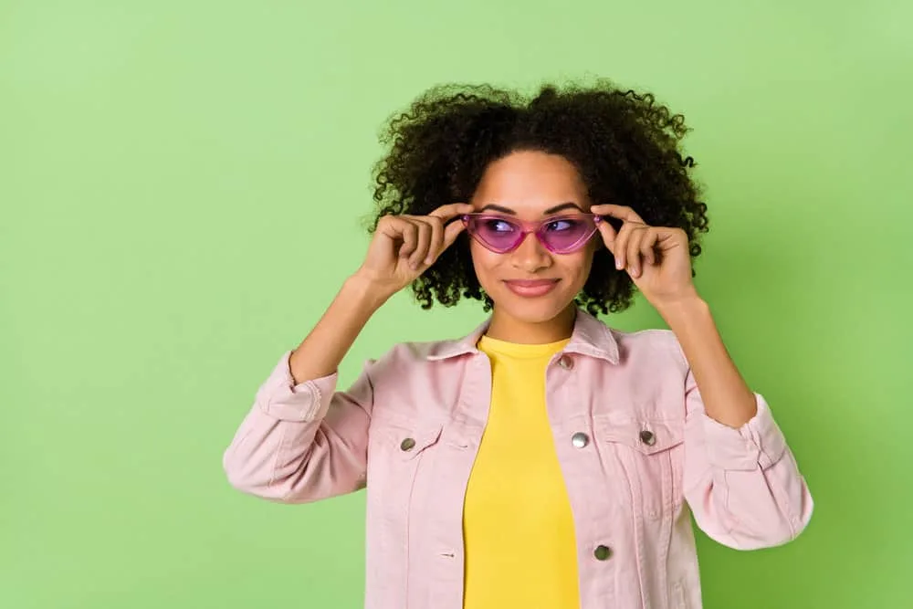
[[[295,384],[290,355],[282,355],[260,386],[225,452],[229,483],[282,503],[307,503],[364,488],[373,361],[347,391],[339,392],[338,373]]]

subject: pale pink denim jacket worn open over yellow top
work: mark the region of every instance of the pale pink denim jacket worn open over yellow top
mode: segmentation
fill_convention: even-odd
[[[287,352],[226,451],[231,484],[265,499],[367,488],[368,609],[462,608],[463,499],[491,383],[476,341],[487,325],[462,340],[398,344],[345,392],[336,373],[295,385]],[[670,331],[614,331],[581,310],[546,371],[546,399],[582,609],[698,609],[691,513],[740,550],[790,541],[811,518],[761,395],[740,429],[710,419]]]

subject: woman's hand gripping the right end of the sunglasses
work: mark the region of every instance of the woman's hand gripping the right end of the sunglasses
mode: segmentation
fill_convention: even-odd
[[[590,211],[623,222],[618,231],[608,222],[597,226],[615,258],[615,268],[624,268],[654,307],[696,295],[684,230],[649,226],[624,205],[593,205]]]

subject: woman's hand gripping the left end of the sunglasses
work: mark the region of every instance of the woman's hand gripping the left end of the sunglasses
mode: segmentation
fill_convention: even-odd
[[[429,215],[384,215],[356,275],[389,295],[404,289],[463,231],[462,222],[447,225],[447,221],[472,209],[472,205],[454,203],[442,205]]]

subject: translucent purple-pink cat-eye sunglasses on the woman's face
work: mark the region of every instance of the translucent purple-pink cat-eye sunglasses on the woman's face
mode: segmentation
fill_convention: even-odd
[[[495,214],[462,217],[469,236],[496,254],[519,247],[530,233],[552,254],[570,254],[586,245],[603,218],[594,214],[555,215],[536,222]]]

